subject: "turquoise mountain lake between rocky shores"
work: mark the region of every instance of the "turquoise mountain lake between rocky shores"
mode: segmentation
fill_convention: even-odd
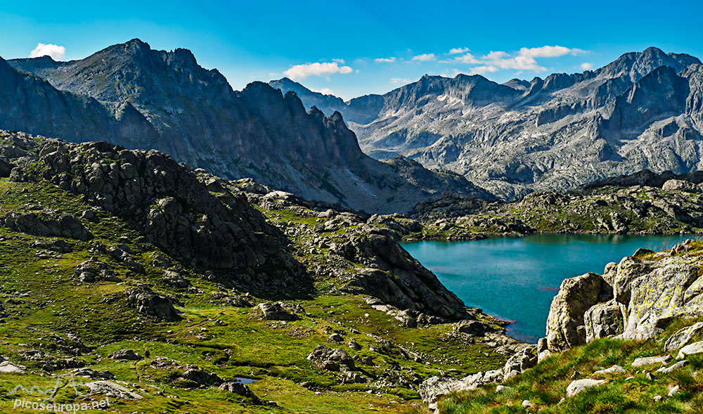
[[[602,274],[639,247],[666,250],[690,235],[529,235],[403,247],[467,306],[514,321],[508,334],[534,343],[545,334],[552,298],[565,278]]]

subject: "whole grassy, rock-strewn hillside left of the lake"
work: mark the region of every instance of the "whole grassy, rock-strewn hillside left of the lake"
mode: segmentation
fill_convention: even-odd
[[[105,142],[0,160],[8,412],[395,413],[524,347],[368,216]]]

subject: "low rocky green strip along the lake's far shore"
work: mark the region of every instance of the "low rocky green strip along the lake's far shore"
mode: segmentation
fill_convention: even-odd
[[[514,202],[445,195],[409,214],[373,216],[402,240],[476,240],[534,233],[691,234],[703,232],[703,175],[636,174]]]

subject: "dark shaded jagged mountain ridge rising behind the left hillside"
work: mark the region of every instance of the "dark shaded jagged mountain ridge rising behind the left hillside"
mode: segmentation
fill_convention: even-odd
[[[233,91],[186,49],[134,39],[70,62],[1,61],[0,82],[4,129],[162,150],[213,174],[368,212],[404,212],[442,193],[491,197],[458,174],[373,160],[339,113],[307,111],[295,93],[262,82]]]

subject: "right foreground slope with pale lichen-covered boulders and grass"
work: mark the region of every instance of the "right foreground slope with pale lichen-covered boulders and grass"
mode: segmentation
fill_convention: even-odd
[[[697,412],[702,253],[703,243],[687,240],[669,252],[640,249],[602,275],[566,279],[538,344],[503,370],[432,377],[420,394],[439,413]]]

